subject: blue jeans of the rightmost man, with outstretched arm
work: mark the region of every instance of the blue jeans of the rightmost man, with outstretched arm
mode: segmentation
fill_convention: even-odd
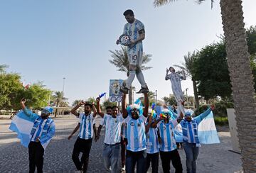
[[[199,154],[199,147],[196,143],[184,143],[183,148],[186,153],[186,170],[187,173],[196,173],[196,160]],[[191,170],[192,167],[192,170]]]

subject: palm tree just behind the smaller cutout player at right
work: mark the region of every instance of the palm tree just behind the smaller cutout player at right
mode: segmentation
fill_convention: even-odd
[[[184,55],[184,61],[185,63],[182,63],[181,65],[174,65],[176,67],[179,67],[180,69],[183,69],[185,71],[186,77],[190,77],[192,82],[193,82],[193,91],[194,91],[194,96],[195,96],[195,101],[196,101],[196,108],[199,108],[199,99],[198,99],[198,90],[196,87],[196,79],[193,75],[193,62],[196,59],[196,52],[193,51],[188,52],[188,55]]]

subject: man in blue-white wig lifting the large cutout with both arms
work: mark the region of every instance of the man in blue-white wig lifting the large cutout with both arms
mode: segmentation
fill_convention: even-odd
[[[144,110],[140,104],[127,107],[126,94],[122,97],[122,115],[127,123],[127,154],[125,171],[134,172],[137,164],[137,173],[145,172],[146,165],[146,133],[145,120],[149,110],[149,98],[144,93]]]

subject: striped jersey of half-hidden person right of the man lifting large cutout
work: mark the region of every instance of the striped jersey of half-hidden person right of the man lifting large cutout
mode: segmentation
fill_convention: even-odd
[[[150,127],[148,133],[146,133],[146,153],[154,154],[156,152],[159,152],[157,128]]]

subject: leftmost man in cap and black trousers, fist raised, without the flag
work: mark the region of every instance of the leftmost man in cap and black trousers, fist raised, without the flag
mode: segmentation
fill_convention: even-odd
[[[41,116],[32,113],[25,106],[26,99],[21,100],[21,108],[28,118],[34,121],[31,130],[31,141],[28,145],[29,172],[43,172],[43,154],[46,145],[55,134],[55,123],[49,117],[53,113],[53,108],[47,106],[41,112]],[[44,145],[46,144],[46,145]]]

